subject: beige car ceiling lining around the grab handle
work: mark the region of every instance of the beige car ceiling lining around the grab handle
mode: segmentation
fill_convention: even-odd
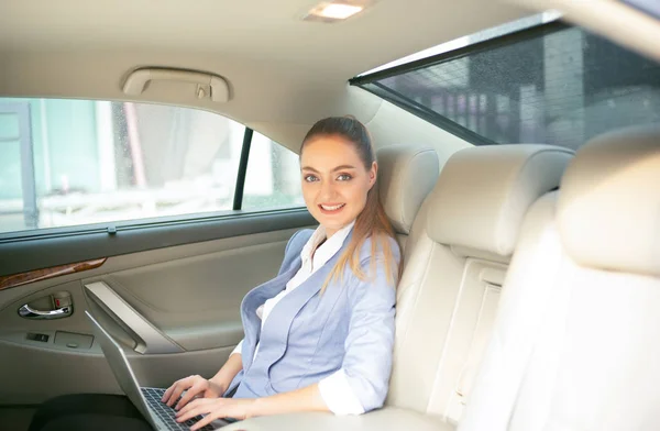
[[[295,147],[321,117],[373,119],[381,101],[348,88],[353,76],[531,13],[492,0],[378,0],[345,22],[301,21],[315,4],[6,0],[0,95],[127,100],[121,85],[136,67],[198,69],[226,77],[232,100],[197,100],[158,85],[132,100],[212,110]]]

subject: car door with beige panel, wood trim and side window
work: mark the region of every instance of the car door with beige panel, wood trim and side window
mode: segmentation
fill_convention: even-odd
[[[121,393],[85,311],[141,384],[211,376],[314,225],[297,156],[213,113],[0,99],[0,405]]]

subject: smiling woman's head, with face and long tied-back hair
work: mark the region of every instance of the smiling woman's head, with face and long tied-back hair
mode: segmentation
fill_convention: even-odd
[[[391,280],[392,248],[386,239],[394,237],[394,230],[378,200],[378,164],[366,128],[352,117],[317,122],[302,141],[300,166],[305,203],[326,228],[328,237],[341,226],[355,223],[353,240],[333,276],[340,274],[349,259],[353,273],[362,276],[355,252],[373,236],[372,254],[382,247]]]

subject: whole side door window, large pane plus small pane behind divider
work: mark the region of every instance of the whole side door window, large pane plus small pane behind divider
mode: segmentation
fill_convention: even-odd
[[[0,232],[231,211],[244,134],[188,108],[0,99]],[[286,152],[255,139],[272,180],[249,183],[243,209],[299,206]]]

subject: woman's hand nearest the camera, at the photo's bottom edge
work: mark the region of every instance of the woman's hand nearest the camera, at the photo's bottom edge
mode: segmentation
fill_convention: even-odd
[[[250,398],[199,398],[189,402],[176,413],[177,422],[185,422],[199,415],[206,415],[190,430],[198,430],[216,419],[248,419],[253,416],[254,399]]]

